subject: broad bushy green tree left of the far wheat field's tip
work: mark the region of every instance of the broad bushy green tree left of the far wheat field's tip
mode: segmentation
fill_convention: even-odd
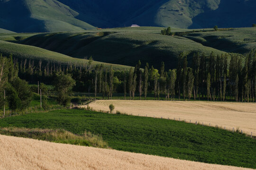
[[[67,106],[70,103],[69,95],[72,93],[74,85],[75,81],[70,74],[60,74],[56,76],[54,86],[57,92],[57,101],[60,104]]]

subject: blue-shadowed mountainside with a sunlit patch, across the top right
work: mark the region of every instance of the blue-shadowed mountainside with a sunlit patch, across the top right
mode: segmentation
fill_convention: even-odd
[[[175,28],[248,27],[256,21],[255,0],[59,1],[80,13],[100,18],[104,22],[85,21],[103,28],[132,24]]]

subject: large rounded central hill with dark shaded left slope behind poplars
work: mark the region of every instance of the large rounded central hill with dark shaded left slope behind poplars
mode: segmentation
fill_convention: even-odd
[[[203,46],[188,38],[161,35],[161,27],[114,28],[87,32],[46,33],[31,36],[19,43],[56,51],[75,58],[92,56],[94,60],[134,66],[140,59],[156,68],[165,61],[166,68],[175,68],[177,56],[185,52],[191,59],[194,51],[225,53]],[[187,31],[173,29],[173,31]]]

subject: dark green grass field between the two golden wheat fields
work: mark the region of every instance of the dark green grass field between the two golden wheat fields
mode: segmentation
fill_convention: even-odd
[[[100,134],[116,150],[256,168],[256,140],[219,128],[167,119],[54,110],[0,119],[0,127],[65,129]]]

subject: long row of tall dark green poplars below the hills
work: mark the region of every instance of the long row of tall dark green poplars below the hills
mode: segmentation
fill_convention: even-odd
[[[19,77],[31,84],[52,84],[56,73],[70,74],[76,82],[74,91],[94,93],[95,98],[111,99],[113,93],[123,93],[128,99],[138,95],[146,100],[148,94],[154,94],[158,100],[164,96],[165,100],[256,101],[256,52],[231,59],[228,55],[195,53],[192,67],[181,53],[177,68],[171,70],[165,69],[164,62],[159,70],[147,63],[142,69],[140,61],[129,71],[93,65],[92,60],[82,65],[16,60],[15,65]]]

